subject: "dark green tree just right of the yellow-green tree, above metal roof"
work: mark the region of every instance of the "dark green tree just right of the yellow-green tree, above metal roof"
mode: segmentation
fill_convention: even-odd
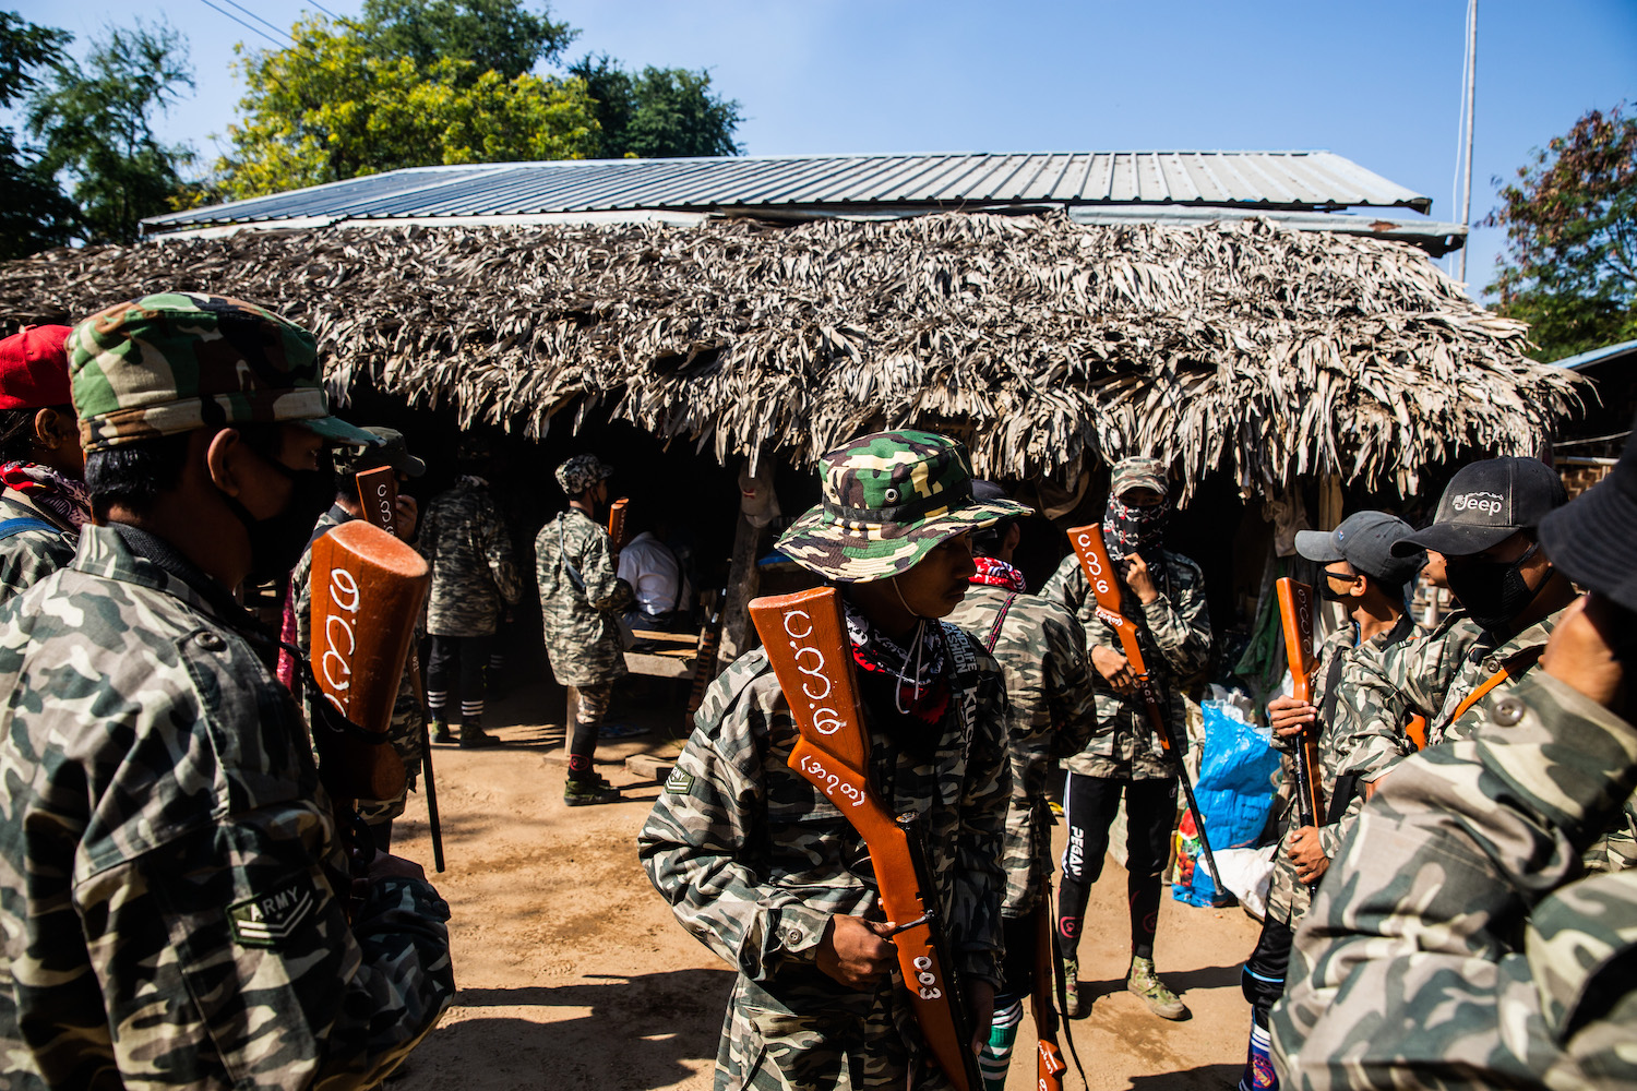
[[[637,155],[738,155],[738,101],[710,92],[709,72],[645,67],[627,72],[607,54],[570,67],[596,101],[598,159]]]

